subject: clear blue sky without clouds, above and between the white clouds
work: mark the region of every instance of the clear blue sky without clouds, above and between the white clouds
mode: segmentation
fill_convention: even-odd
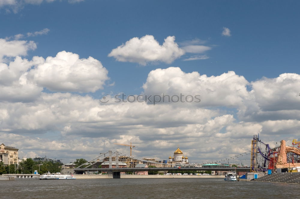
[[[25,5],[16,14],[2,9],[1,37],[49,28],[47,35],[34,38],[38,48],[28,57],[55,56],[62,50],[82,58],[92,56],[109,69],[116,82],[113,90],[137,94],[140,90],[131,89],[139,89],[149,71],[169,66],[209,76],[232,70],[248,81],[298,73],[297,5],[297,1],[43,2]],[[230,29],[231,37],[221,35],[223,27]],[[207,60],[183,62],[187,55],[171,64],[145,67],[107,57],[113,48],[146,34],[160,44],[167,36],[175,36],[177,43],[199,39],[214,47],[207,52]],[[124,81],[124,75],[130,78]]]

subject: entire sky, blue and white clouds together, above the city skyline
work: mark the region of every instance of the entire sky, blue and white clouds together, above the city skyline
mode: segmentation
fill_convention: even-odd
[[[300,139],[299,6],[0,0],[1,143],[19,157],[44,157],[47,148],[65,163],[129,151],[113,143],[160,160],[179,145],[190,162],[249,151],[258,133],[271,147],[292,145]],[[201,102],[115,103],[122,93]]]

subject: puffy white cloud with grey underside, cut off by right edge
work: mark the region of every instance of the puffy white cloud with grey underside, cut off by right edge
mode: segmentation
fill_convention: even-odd
[[[251,98],[238,115],[243,120],[300,120],[300,75],[283,73],[250,83]]]

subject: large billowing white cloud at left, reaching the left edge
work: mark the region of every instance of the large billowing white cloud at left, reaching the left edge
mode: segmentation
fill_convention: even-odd
[[[17,56],[0,62],[0,101],[30,102],[41,95],[43,88],[63,92],[95,92],[108,80],[101,62],[62,51],[56,57],[35,56],[32,60]]]

